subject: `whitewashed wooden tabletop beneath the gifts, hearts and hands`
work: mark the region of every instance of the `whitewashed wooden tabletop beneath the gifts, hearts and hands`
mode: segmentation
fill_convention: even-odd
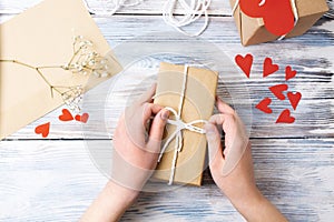
[[[38,2],[40,0],[1,0],[1,21]],[[95,14],[94,18],[112,48],[143,34],[153,36],[151,41],[155,41],[155,33],[174,31],[160,17],[163,2],[146,0],[145,4],[124,8],[116,16]],[[88,3],[97,12],[101,10],[97,0]],[[289,221],[333,221],[334,20],[323,18],[298,38],[244,48],[234,20],[228,16],[228,2],[213,0],[210,8],[210,24],[202,40],[215,43],[232,60],[238,53],[255,56],[252,79],[245,84],[253,102],[250,139],[258,188]],[[174,39],[170,44],[180,41]],[[268,87],[282,83],[284,79],[283,73],[262,79],[265,57],[283,67],[291,64],[298,71],[289,83],[291,88],[303,93],[293,124],[275,124],[275,117],[282,110],[279,103],[273,104],[275,117],[254,108],[261,99],[269,95]],[[178,60],[167,59],[171,62]],[[155,70],[157,60],[147,58],[136,65],[136,80],[140,81],[146,78],[140,73]],[[240,93],[245,87],[243,81],[245,78],[239,78],[234,83]],[[117,92],[120,103],[134,89],[130,80],[124,83],[122,90]],[[218,85],[218,94],[224,97],[223,82]],[[120,103],[94,108],[106,109],[115,122],[122,108]],[[60,110],[0,142],[0,221],[77,221],[105,185],[107,179],[91,162],[86,141],[99,144],[108,138],[94,130],[82,135],[81,124],[77,122],[55,121]],[[48,139],[42,140],[33,129],[47,121],[55,123]],[[208,171],[200,188],[141,193],[122,220],[244,221],[218,191]]]

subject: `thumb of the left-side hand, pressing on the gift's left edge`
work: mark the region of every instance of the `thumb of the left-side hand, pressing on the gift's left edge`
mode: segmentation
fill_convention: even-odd
[[[160,151],[164,130],[168,118],[169,118],[169,111],[163,109],[156,114],[156,117],[153,120],[149,130],[149,139],[147,142],[148,148],[151,152],[157,153]]]

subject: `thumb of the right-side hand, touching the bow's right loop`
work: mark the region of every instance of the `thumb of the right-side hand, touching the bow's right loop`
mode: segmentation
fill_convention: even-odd
[[[214,167],[215,169],[222,169],[225,160],[223,158],[223,149],[218,129],[215,124],[207,123],[205,125],[205,131],[208,143],[209,165]]]

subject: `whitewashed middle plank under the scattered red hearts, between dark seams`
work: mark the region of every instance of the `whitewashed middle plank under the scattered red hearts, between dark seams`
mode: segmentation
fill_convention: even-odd
[[[250,101],[253,102],[253,107],[263,98],[273,97],[268,90],[268,87],[277,83],[284,83],[285,65],[291,64],[298,71],[298,75],[288,81],[291,90],[301,91],[303,93],[302,102],[297,111],[294,112],[295,117],[297,118],[296,123],[291,125],[274,124],[282,109],[288,105],[287,101],[284,101],[283,103],[275,102],[273,104],[274,114],[272,115],[265,115],[257,110],[253,110],[254,117],[252,124],[252,137],[333,137],[333,20],[321,20],[306,34],[298,38],[247,48],[240,46],[237,37],[238,33],[232,18],[213,18],[212,20],[213,22],[208,27],[208,30],[200,38],[202,41],[214,43],[220,51],[227,54],[227,57],[230,59],[230,62],[237,53],[253,53],[255,56],[250,80],[246,81],[246,78],[242,73],[236,77],[234,73],[220,73],[220,75],[224,77],[224,80],[228,81],[230,89],[240,97],[248,95],[248,93],[245,91],[246,87],[243,83],[243,81],[245,81],[249,90],[249,97]],[[112,18],[97,18],[96,21],[114,49],[118,50],[118,54],[120,57],[122,56],[121,47],[125,41],[138,39],[140,42],[141,39],[139,36],[146,34],[148,37],[145,39],[145,42],[157,42],[156,34],[161,30],[169,33],[166,36],[165,42],[171,42],[173,44],[177,46],[186,46],[187,48],[187,43],[189,47],[191,47],[191,41],[189,40],[187,40],[179,36],[174,37],[176,32],[173,30],[173,28],[165,24],[161,18],[154,16],[115,16]],[[196,27],[191,27],[190,30],[194,31],[195,28]],[[196,60],[200,62],[200,59],[205,60],[206,58],[210,58],[209,51],[210,49],[199,49],[198,53],[200,58],[196,58]],[[124,53],[129,53],[129,51],[126,50]],[[307,54],[307,58],[305,58],[304,54]],[[281,65],[281,71],[277,74],[273,74],[266,79],[263,79],[262,65],[265,57],[273,58],[274,62]],[[183,58],[184,57],[176,54],[166,54],[166,51],[163,51],[160,56],[143,58],[132,65],[136,78],[130,77],[126,79],[125,82],[119,83],[121,85],[121,90],[118,91],[118,103],[115,103],[115,107],[111,105],[108,108],[101,108],[96,107],[95,104],[89,104],[87,109],[97,111],[101,111],[101,109],[106,110],[106,113],[110,113],[111,122],[115,127],[118,114],[124,108],[124,103],[119,102],[127,100],[129,93],[136,89],[136,85],[132,84],[132,80],[136,79],[136,81],[141,81],[147,78],[146,74],[153,74],[151,72],[157,69],[159,60],[179,63]],[[218,88],[218,94],[223,95],[225,99],[228,98],[227,90],[222,82]],[[141,91],[139,90],[138,92],[143,92],[145,88],[140,89]],[[96,102],[98,104],[105,104],[105,101],[99,99],[104,98],[105,94],[98,93],[99,92],[96,92],[95,95],[97,97]],[[244,102],[242,99],[237,101],[240,103]],[[51,112],[50,114],[40,119],[38,122],[32,123],[8,139],[40,139],[39,135],[33,134],[33,129],[38,124],[48,121],[50,121],[52,124],[49,139],[84,138],[81,124],[78,122],[66,124],[59,122],[59,113],[60,110]],[[94,120],[94,113],[90,114],[91,120]],[[101,123],[101,121],[98,120],[94,122],[92,130],[90,132],[88,131],[85,138],[106,138],[99,132],[98,129],[100,127],[104,127],[104,122]],[[110,130],[112,131],[112,125]]]

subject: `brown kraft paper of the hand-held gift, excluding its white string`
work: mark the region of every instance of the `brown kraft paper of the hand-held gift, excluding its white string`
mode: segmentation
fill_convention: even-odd
[[[188,68],[185,101],[181,120],[186,123],[194,120],[208,120],[213,113],[218,73]],[[184,65],[161,63],[158,74],[155,103],[178,111],[184,78]],[[170,114],[173,119],[173,114]],[[196,127],[203,127],[196,124]],[[167,124],[166,138],[175,131],[175,125]],[[160,163],[154,174],[155,179],[168,181],[171,173],[175,140],[167,147]],[[202,184],[202,174],[206,155],[206,137],[189,130],[183,131],[183,149],[177,155],[174,182],[193,185]]]

